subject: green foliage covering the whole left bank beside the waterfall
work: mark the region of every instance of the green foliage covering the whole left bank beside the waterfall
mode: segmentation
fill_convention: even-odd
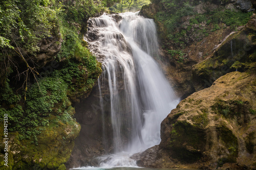
[[[46,143],[42,138],[51,139],[51,128],[56,127],[61,128],[53,130],[58,131],[54,133],[56,137],[61,133],[63,135],[65,128],[73,127],[70,134],[65,133],[63,136],[68,143],[77,136],[79,126],[73,118],[75,110],[71,106],[73,100],[71,98],[78,94],[89,93],[101,71],[100,64],[82,40],[86,30],[86,21],[115,2],[116,0],[97,2],[93,0],[3,0],[0,2],[0,65],[2,67],[0,71],[0,120],[8,114],[8,131],[13,138],[12,135],[17,134],[18,138],[14,138],[14,142],[18,144],[18,147],[32,146],[31,153],[33,153],[32,150],[38,148],[37,151],[41,152],[44,148],[42,145]],[[63,42],[56,42],[62,43],[57,68],[54,67],[51,72],[44,71],[45,74],[37,78],[38,84],[32,74],[28,76],[25,84],[23,84],[24,77],[20,75],[20,80],[9,82],[9,79],[13,79],[17,72],[21,73],[26,69],[23,63],[18,65],[17,70],[14,67],[14,64],[20,62],[20,58],[13,51],[14,48],[17,50],[18,46],[27,58],[33,60],[32,55],[38,52],[37,44],[42,38],[61,39],[60,36]],[[14,64],[8,65],[9,63]],[[37,63],[34,65],[37,70],[40,69]],[[5,70],[8,71],[3,74]],[[18,89],[22,85],[26,87],[26,90]],[[26,98],[24,98],[25,93]],[[72,136],[75,133],[76,136]],[[55,141],[54,137],[51,140]],[[28,145],[22,144],[23,142],[27,142]],[[35,146],[37,144],[39,145]],[[66,143],[59,144],[64,144],[63,146],[67,148]],[[47,147],[49,149],[50,146],[47,145]],[[71,144],[67,153],[61,149],[61,153],[69,157],[72,147]],[[31,154],[31,157],[34,156]],[[68,159],[66,157],[62,163]],[[56,159],[59,161],[59,157]],[[44,158],[43,160],[46,161]],[[51,158],[51,161],[55,160]],[[60,166],[60,169],[65,168],[63,164]]]

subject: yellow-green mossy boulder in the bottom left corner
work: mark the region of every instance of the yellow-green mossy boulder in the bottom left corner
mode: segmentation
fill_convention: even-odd
[[[57,118],[53,116],[52,119]],[[17,132],[9,133],[8,167],[1,164],[1,168],[64,169],[63,163],[67,162],[71,155],[80,125],[74,119],[69,122],[60,119],[37,129],[41,129],[41,133],[37,135],[37,144],[33,139],[20,140]],[[3,144],[1,150],[4,150]],[[1,153],[1,162],[4,160],[3,156]]]

